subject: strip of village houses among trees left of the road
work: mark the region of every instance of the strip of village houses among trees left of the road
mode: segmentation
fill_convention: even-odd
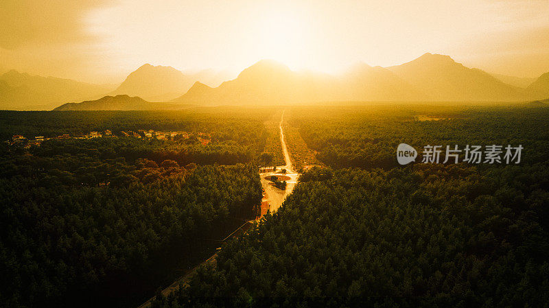
[[[102,132],[92,131],[89,134],[80,134],[72,136],[70,134],[60,134],[57,137],[44,137],[44,136],[35,136],[34,139],[28,139],[21,134],[14,134],[11,141],[5,141],[10,143],[10,145],[21,145],[25,149],[28,149],[32,146],[40,146],[43,141],[50,139],[94,139],[94,138],[117,138],[117,137],[131,137],[136,139],[157,139],[157,140],[185,140],[191,137],[196,137],[202,145],[207,145],[211,141],[210,134],[205,132],[161,132],[155,130],[137,130],[133,132],[131,130],[124,131],[121,130],[119,134],[113,134],[111,130],[104,130]]]

